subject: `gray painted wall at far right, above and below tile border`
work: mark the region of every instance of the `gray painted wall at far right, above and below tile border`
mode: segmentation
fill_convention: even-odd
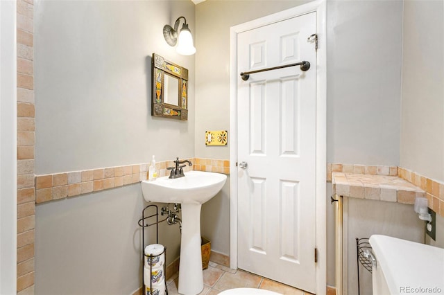
[[[444,2],[404,1],[400,166],[444,181]],[[444,217],[436,217],[444,247]]]

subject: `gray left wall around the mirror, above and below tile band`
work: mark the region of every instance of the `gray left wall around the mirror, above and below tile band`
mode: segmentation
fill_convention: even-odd
[[[162,35],[180,15],[194,33],[191,1],[36,1],[37,175],[194,157],[194,56]],[[189,120],[151,116],[152,53],[189,69]],[[135,291],[145,205],[140,184],[38,205],[35,293]],[[159,236],[171,262],[178,226]]]

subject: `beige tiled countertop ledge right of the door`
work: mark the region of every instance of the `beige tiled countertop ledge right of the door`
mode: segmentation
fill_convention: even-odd
[[[333,172],[333,193],[343,197],[414,204],[425,191],[395,176]]]

